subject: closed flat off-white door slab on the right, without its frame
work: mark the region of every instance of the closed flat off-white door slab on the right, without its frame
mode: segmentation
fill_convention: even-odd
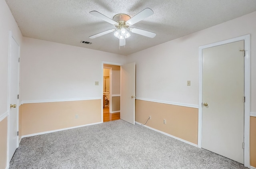
[[[203,49],[202,148],[244,163],[244,41]]]

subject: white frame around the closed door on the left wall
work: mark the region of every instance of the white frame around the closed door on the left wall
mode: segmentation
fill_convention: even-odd
[[[10,57],[11,57],[11,40],[14,40],[18,47],[19,47],[19,51],[18,51],[18,58],[20,58],[20,44],[16,41],[16,38],[14,37],[14,35],[12,34],[12,31],[10,30],[9,31],[9,51],[8,51],[8,96],[7,96],[7,110],[8,110],[8,120],[7,120],[7,166],[9,167],[10,166],[10,159],[9,159],[9,150],[10,150],[10,135],[9,135],[9,132],[10,132]],[[17,61],[18,62],[18,61]],[[20,92],[20,63],[18,63],[18,84],[17,84],[17,87],[18,87],[18,93]],[[19,131],[19,106],[20,106],[20,102],[19,102],[19,99],[17,99],[17,103],[16,103],[16,118],[17,118],[17,131]],[[17,136],[16,138],[16,148],[19,147],[19,136]]]

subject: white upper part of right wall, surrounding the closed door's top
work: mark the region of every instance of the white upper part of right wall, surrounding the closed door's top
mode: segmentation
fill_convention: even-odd
[[[136,63],[136,97],[198,105],[198,47],[250,34],[251,112],[256,112],[255,18],[253,12],[129,55],[127,63]]]

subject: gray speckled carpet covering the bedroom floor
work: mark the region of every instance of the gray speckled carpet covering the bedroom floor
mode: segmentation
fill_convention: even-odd
[[[22,138],[10,169],[248,169],[141,125],[115,120]]]

